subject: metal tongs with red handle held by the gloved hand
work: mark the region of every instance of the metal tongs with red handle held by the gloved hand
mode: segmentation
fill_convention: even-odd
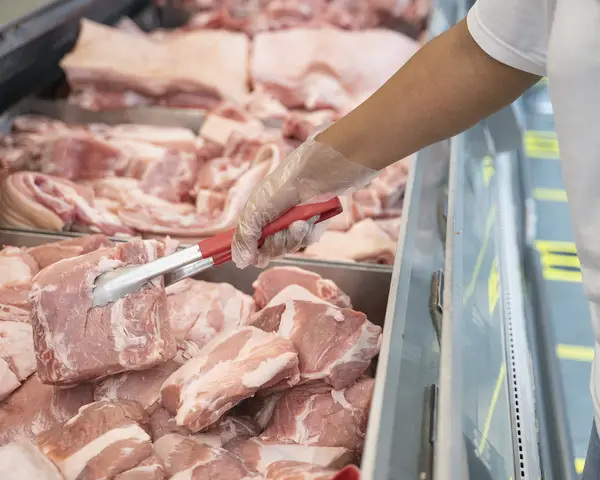
[[[259,245],[262,245],[268,236],[285,230],[298,220],[320,223],[342,211],[342,204],[338,197],[326,202],[294,207],[263,228]],[[93,306],[102,307],[116,302],[125,295],[138,292],[148,281],[161,275],[164,275],[165,286],[169,286],[208,268],[230,261],[234,233],[235,230],[229,230],[153,262],[119,267],[103,273],[96,278],[94,284]]]

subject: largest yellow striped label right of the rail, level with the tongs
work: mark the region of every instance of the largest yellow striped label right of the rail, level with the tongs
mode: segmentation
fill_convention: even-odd
[[[581,264],[573,242],[536,241],[546,280],[581,282]]]

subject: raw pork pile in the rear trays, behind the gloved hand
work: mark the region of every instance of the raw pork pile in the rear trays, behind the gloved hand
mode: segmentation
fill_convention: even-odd
[[[112,28],[84,20],[75,50],[62,61],[71,102],[96,110],[201,108],[205,122],[192,132],[17,118],[0,138],[0,225],[169,235],[183,243],[231,229],[287,153],[354,108],[417,49],[384,28],[269,23],[352,2],[242,4],[246,20],[264,14],[269,27],[256,27],[262,33],[253,37],[231,25],[146,34],[131,22]],[[211,2],[205,7],[213,10],[201,15],[234,9],[238,18],[240,5]],[[302,254],[393,263],[409,165],[400,160],[344,199],[344,214]]]

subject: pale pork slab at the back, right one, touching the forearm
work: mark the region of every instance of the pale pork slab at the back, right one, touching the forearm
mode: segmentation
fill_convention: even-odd
[[[255,85],[287,107],[345,113],[381,87],[416,51],[416,42],[384,29],[267,32],[254,39],[251,75]]]

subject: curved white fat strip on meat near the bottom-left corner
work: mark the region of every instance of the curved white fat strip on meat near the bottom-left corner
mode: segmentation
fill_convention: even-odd
[[[144,443],[150,442],[150,436],[138,425],[113,428],[95,438],[62,462],[57,461],[56,463],[65,476],[65,480],[76,480],[92,458],[100,455],[105,448],[111,446],[113,443],[122,440]]]

